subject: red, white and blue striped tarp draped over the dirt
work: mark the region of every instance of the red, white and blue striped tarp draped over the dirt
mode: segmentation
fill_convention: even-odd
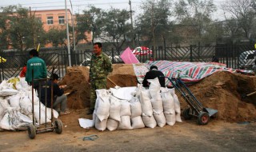
[[[136,66],[134,64],[134,72],[138,79],[138,82],[142,83],[146,72],[150,69],[150,66],[158,66],[158,70],[169,78],[179,78],[183,82],[191,83],[198,82],[202,78],[206,78],[210,74],[214,74],[217,71],[229,71],[231,73],[237,70],[226,68],[225,64],[216,62],[169,62],[165,60],[161,61],[148,61],[142,66]],[[241,71],[241,70],[240,70]],[[243,70],[243,72],[251,73],[252,71]],[[170,82],[166,78],[166,84]]]

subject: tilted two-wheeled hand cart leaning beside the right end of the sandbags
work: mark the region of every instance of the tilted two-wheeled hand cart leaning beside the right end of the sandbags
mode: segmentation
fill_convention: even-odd
[[[165,77],[168,78],[168,77]],[[210,117],[218,113],[218,110],[205,108],[202,106],[202,103],[194,97],[194,94],[191,93],[190,89],[186,87],[185,83],[182,82],[180,78],[168,78],[172,83],[174,88],[182,95],[182,98],[185,99],[187,104],[190,106],[183,110],[183,117],[188,120],[190,118],[197,117],[199,125],[206,125]]]

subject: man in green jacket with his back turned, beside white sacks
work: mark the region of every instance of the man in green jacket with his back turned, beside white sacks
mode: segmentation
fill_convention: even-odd
[[[34,79],[47,78],[46,63],[38,58],[38,50],[30,50],[30,59],[26,63],[26,82],[32,85],[32,70]],[[34,81],[34,89],[38,90],[38,82]]]

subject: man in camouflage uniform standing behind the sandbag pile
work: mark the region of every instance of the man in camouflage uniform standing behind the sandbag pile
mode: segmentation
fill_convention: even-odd
[[[102,43],[95,42],[94,54],[90,59],[90,111],[87,114],[94,113],[97,98],[95,90],[106,89],[106,78],[112,70],[110,58],[102,52]]]

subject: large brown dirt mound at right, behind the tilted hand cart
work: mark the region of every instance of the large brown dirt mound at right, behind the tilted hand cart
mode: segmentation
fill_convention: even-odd
[[[227,71],[216,72],[190,86],[191,92],[203,106],[218,110],[218,118],[227,122],[254,120],[256,95],[246,98],[242,98],[242,95],[254,92],[255,88],[256,77]]]

